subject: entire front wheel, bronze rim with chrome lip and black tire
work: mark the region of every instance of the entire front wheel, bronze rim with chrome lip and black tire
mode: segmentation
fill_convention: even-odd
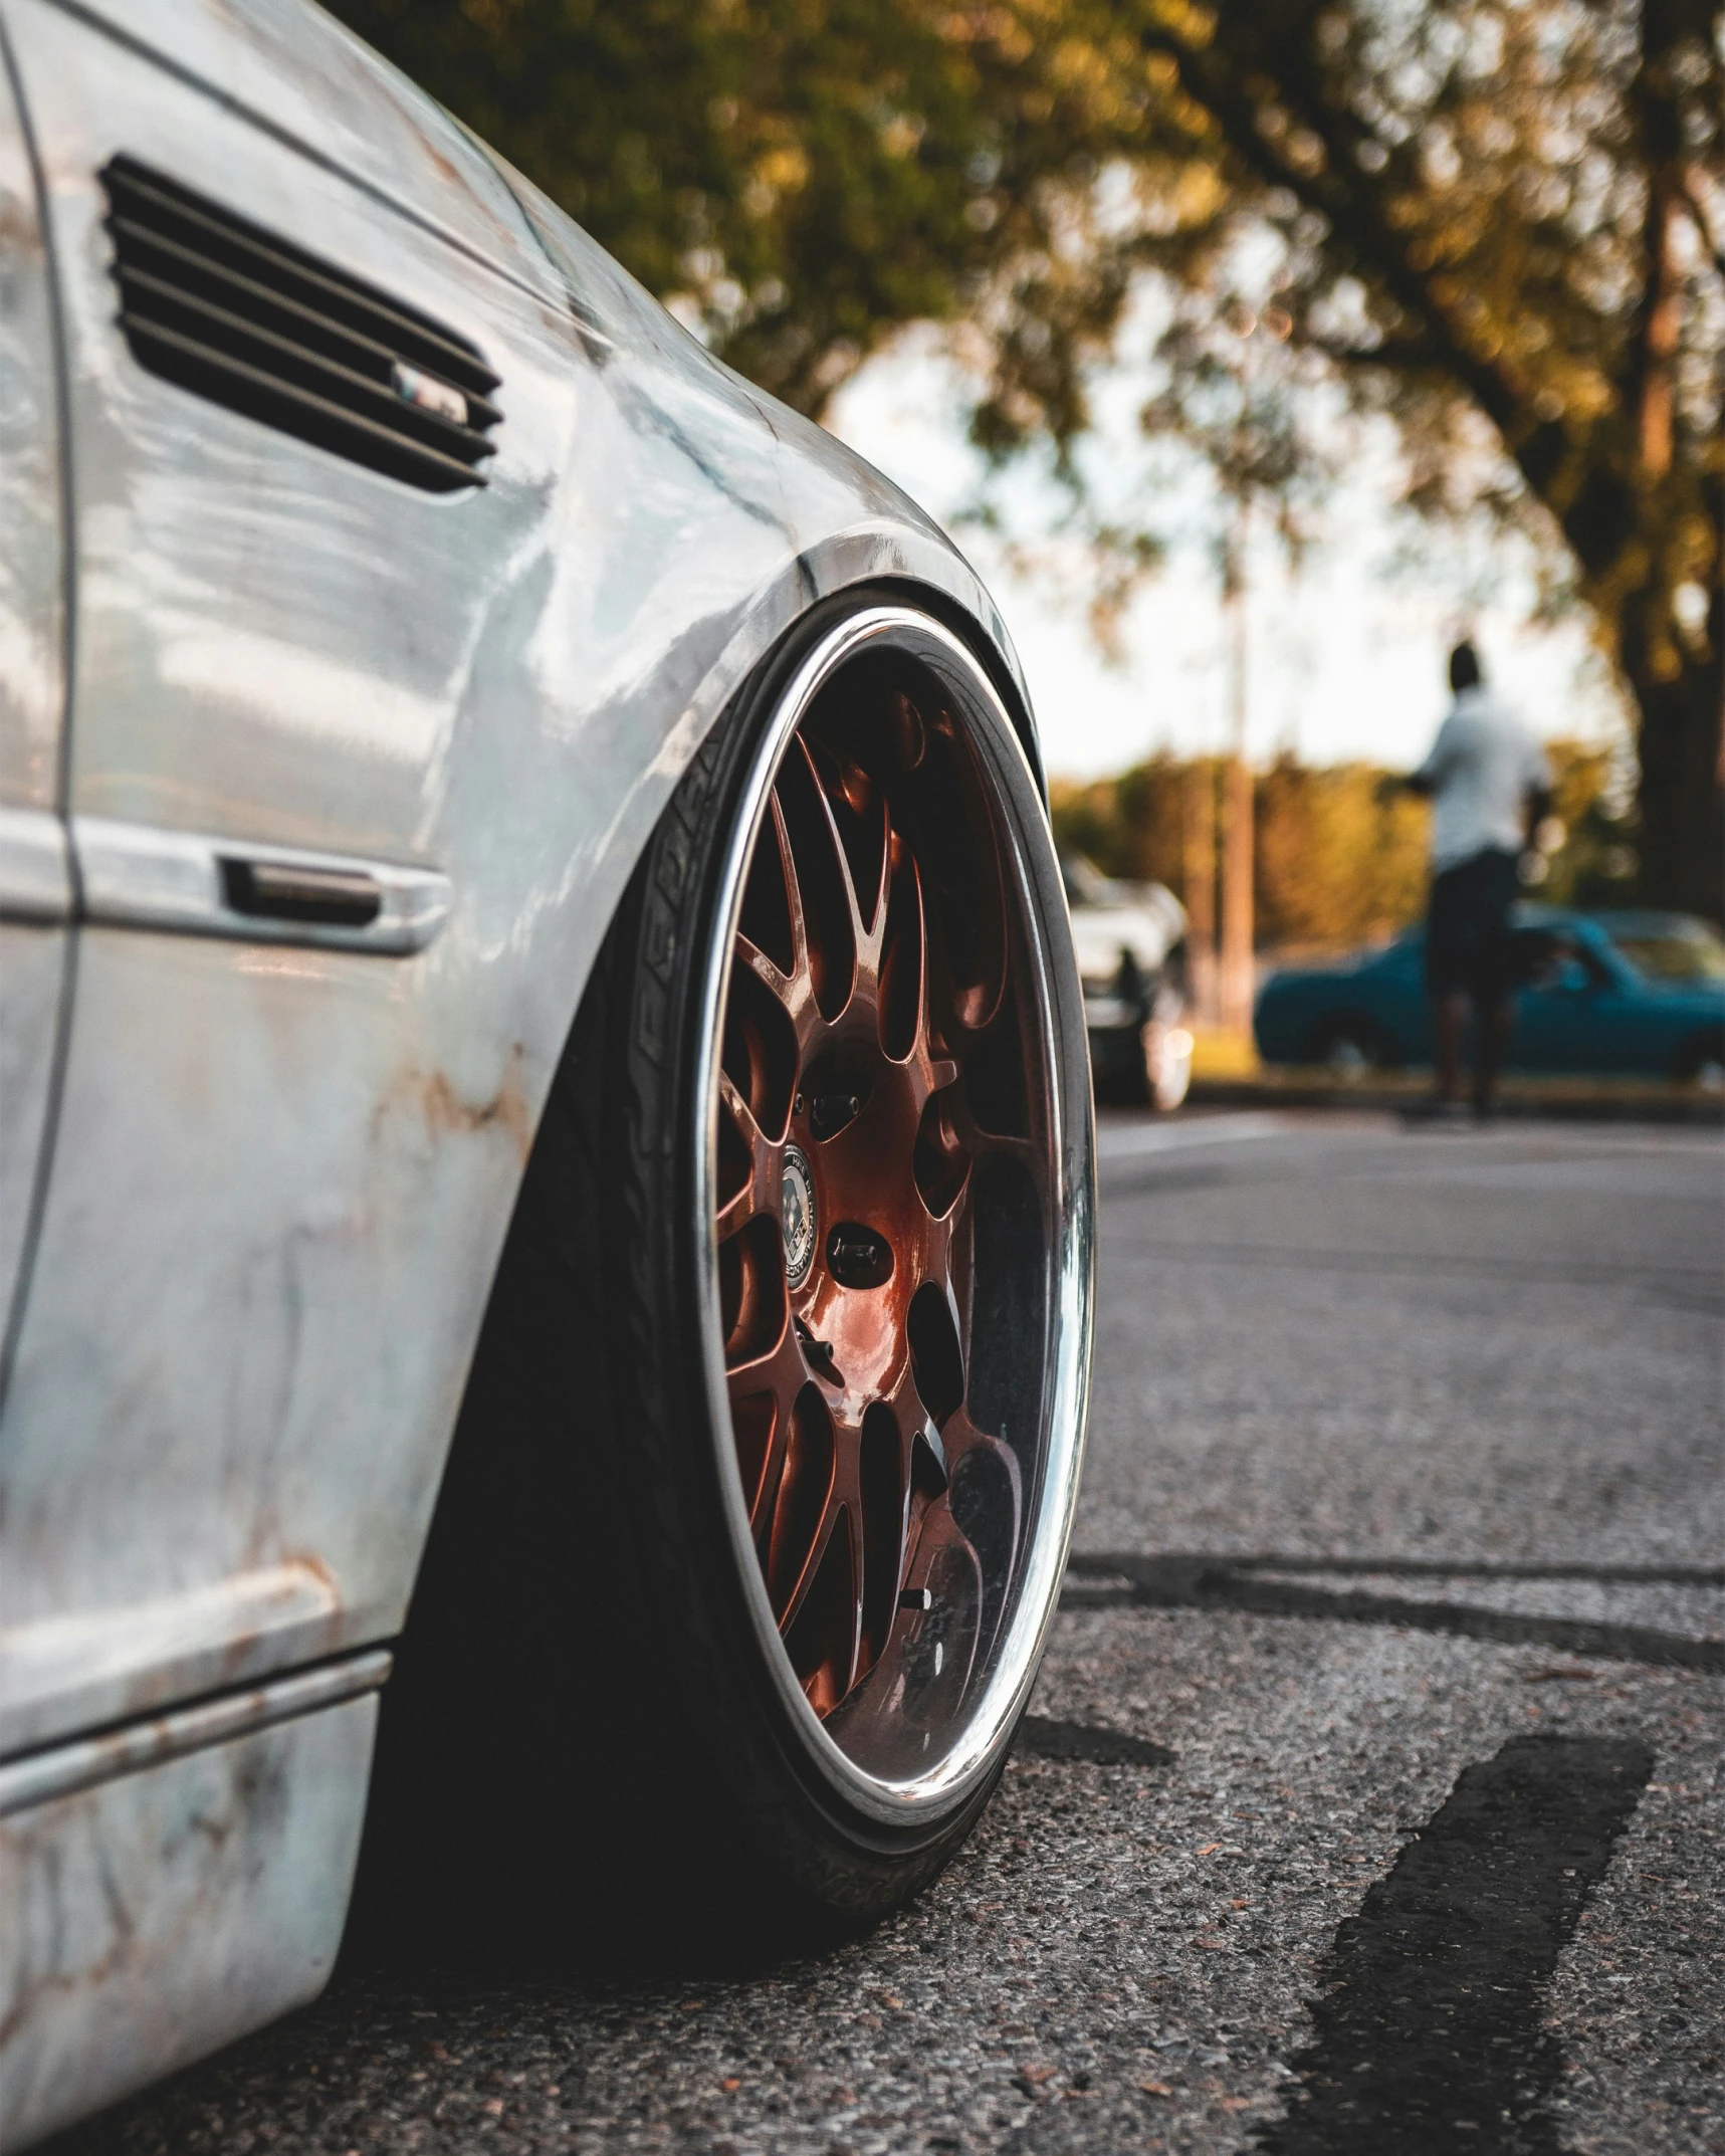
[[[783,1947],[916,1891],[1054,1611],[1091,1263],[1024,750],[942,625],[822,608],[686,774],[582,1005],[380,1789],[414,1718],[444,1755],[451,1710],[481,1723],[494,1910],[610,1951]]]

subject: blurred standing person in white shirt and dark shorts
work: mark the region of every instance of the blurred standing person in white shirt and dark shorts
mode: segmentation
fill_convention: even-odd
[[[1509,908],[1520,856],[1550,813],[1550,765],[1527,724],[1486,692],[1479,653],[1449,653],[1453,701],[1432,755],[1391,780],[1432,800],[1432,901],[1425,914],[1425,992],[1438,1035],[1434,1097],[1417,1110],[1434,1121],[1462,1117],[1462,1046],[1468,1007],[1479,1033],[1473,1112],[1488,1117],[1496,1074],[1516,1022]]]

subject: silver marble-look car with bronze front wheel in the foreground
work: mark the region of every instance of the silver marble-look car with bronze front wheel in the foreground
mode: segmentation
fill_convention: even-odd
[[[0,30],[19,2147],[313,1996],[362,1828],[453,1951],[932,1878],[1059,1589],[1093,1194],[936,526],[302,0]]]

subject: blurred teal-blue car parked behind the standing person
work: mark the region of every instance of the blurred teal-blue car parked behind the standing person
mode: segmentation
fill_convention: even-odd
[[[1725,1080],[1725,938],[1662,912],[1518,906],[1522,987],[1509,1067]],[[1339,1076],[1432,1061],[1425,929],[1322,966],[1272,972],[1257,998],[1266,1063]]]

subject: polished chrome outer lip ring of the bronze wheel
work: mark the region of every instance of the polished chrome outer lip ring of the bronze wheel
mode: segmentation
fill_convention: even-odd
[[[1048,1104],[1054,1151],[1052,1294],[1050,1294],[1050,1382],[1044,1399],[1041,1477],[1035,1496],[1035,1529],[1018,1587],[1013,1617],[981,1699],[960,1740],[925,1774],[882,1779],[860,1768],[828,1736],[802,1695],[791,1660],[778,1636],[755,1542],[748,1501],[737,1473],[731,1436],[731,1397],[724,1382],[724,1345],[718,1294],[718,1244],[714,1238],[718,1192],[718,1056],[724,1039],[724,1005],[731,951],[742,918],[744,884],[755,841],[768,815],[768,798],[791,735],[809,716],[822,688],[869,647],[888,647],[921,660],[953,692],[970,740],[977,746],[996,802],[1003,808],[1003,854],[1016,882],[1016,901],[1035,934],[1029,964],[1035,970],[1037,1015],[1044,1056],[1054,1074]],[[1085,1449],[1089,1406],[1091,1332],[1095,1309],[1095,1164],[1089,1089],[1089,1041],[1078,966],[1065,912],[1059,862],[1048,832],[1041,787],[994,686],[975,655],[927,614],[906,606],[869,606],[841,621],[804,655],[778,696],[737,802],[724,854],[718,903],[707,942],[701,983],[701,1024],[694,1067],[694,1100],[703,1123],[694,1138],[694,1220],[701,1289],[701,1360],[707,1393],[707,1423],[718,1449],[724,1526],[731,1537],[748,1613],[772,1671],[785,1712],[809,1757],[826,1781],[860,1813],[882,1824],[910,1826],[953,1811],[994,1768],[998,1749],[1016,1725],[1059,1602],[1072,1511],[1078,1498],[1078,1468]]]

